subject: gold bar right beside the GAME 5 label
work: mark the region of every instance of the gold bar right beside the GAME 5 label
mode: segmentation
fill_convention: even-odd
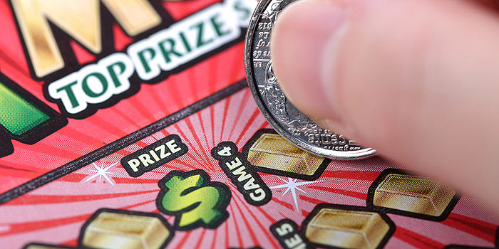
[[[378,247],[389,230],[378,213],[323,208],[310,220],[305,236],[320,245],[371,249]]]

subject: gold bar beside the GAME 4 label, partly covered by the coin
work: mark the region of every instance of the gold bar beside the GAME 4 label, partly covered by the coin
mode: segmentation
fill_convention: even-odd
[[[278,134],[264,133],[249,148],[248,161],[254,166],[312,176],[324,157],[304,152]]]

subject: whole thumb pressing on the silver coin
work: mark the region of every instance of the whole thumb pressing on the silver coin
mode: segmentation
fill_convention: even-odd
[[[303,0],[274,72],[322,127],[499,211],[499,18],[465,1]]]

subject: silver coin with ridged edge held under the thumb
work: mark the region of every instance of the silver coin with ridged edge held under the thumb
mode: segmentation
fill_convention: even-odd
[[[277,15],[295,0],[260,0],[245,41],[245,67],[254,100],[269,124],[284,138],[307,152],[334,159],[359,159],[376,151],[363,148],[329,129],[319,127],[284,96],[272,70],[270,34]]]

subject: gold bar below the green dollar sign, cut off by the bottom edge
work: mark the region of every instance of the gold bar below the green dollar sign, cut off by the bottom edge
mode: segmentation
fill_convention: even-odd
[[[100,213],[83,232],[90,248],[160,248],[170,231],[159,218],[125,213]]]

